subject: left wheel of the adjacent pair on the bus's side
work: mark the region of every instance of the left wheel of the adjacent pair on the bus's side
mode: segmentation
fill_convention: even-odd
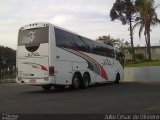
[[[78,89],[80,87],[80,76],[78,74],[73,75],[71,87],[73,89]]]

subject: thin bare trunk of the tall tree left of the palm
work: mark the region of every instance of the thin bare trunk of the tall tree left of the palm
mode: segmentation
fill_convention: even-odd
[[[133,29],[132,29],[131,17],[129,20],[129,30],[130,30],[130,39],[131,39],[131,47],[132,47],[132,60],[133,62],[135,62],[136,58],[135,58],[135,50],[134,50],[134,44],[133,44]]]

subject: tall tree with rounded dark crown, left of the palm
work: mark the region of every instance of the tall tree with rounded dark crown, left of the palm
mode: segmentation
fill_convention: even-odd
[[[130,39],[132,46],[132,59],[135,61],[134,43],[133,43],[133,27],[132,22],[135,19],[136,12],[133,0],[116,0],[110,10],[111,20],[120,20],[123,25],[129,24]]]

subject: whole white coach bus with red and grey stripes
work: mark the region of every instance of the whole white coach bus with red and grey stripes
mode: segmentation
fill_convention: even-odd
[[[19,29],[17,83],[40,85],[48,90],[123,79],[123,55],[49,23],[28,24]]]

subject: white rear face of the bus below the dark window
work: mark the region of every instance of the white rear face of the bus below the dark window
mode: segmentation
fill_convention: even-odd
[[[28,52],[20,46],[17,53],[18,78],[28,84],[43,83],[49,77],[48,44],[41,44],[36,52]],[[23,52],[23,55],[21,54]],[[34,82],[33,82],[34,81]],[[20,82],[20,81],[19,81]],[[48,81],[46,81],[48,82]],[[46,83],[44,82],[44,84]]]

